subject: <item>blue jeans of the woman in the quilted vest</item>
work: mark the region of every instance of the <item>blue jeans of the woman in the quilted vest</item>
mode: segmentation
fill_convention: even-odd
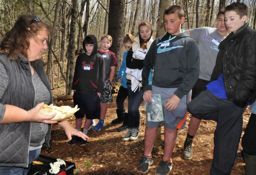
[[[23,167],[0,167],[0,175],[27,175],[30,169],[30,163],[40,155],[41,148],[29,151],[29,165],[27,168]]]

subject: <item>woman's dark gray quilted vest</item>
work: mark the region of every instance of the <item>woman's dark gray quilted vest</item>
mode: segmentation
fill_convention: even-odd
[[[0,54],[0,62],[5,66],[9,77],[8,89],[0,102],[20,107],[26,111],[34,106],[35,90],[32,83],[31,69],[27,58],[19,54],[20,61],[10,61],[5,54]],[[33,62],[34,71],[51,94],[51,86],[43,69],[43,62]],[[19,116],[17,116],[19,117]],[[51,125],[45,138],[49,145]],[[28,167],[30,143],[30,122],[0,124],[0,166]]]

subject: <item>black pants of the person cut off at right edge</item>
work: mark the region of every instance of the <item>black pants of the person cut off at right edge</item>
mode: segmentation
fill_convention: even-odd
[[[244,130],[242,147],[245,154],[256,156],[256,114],[251,114]]]

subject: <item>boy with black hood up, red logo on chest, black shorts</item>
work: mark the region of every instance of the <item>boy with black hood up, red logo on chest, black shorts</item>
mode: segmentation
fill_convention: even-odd
[[[103,92],[105,80],[105,64],[103,57],[97,53],[98,43],[94,35],[88,35],[83,41],[84,54],[77,57],[72,83],[74,90],[74,106],[78,105],[79,111],[75,113],[75,128],[80,131],[82,120],[86,116],[83,132],[87,134],[93,119],[100,119],[100,95]],[[86,140],[74,136],[69,145]]]

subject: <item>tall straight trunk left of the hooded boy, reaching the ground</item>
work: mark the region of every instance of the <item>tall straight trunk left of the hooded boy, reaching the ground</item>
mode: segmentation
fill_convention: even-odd
[[[68,95],[72,94],[71,86],[72,86],[74,69],[75,69],[76,20],[77,20],[77,0],[72,0],[71,23],[70,23],[69,45],[68,45],[68,60],[69,60],[69,66],[70,66],[69,67],[69,81],[68,81],[69,82]]]

